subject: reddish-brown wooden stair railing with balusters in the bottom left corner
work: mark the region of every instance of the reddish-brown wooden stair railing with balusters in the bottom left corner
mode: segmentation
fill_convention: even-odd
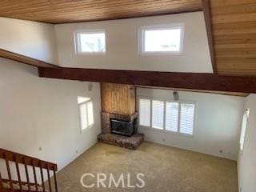
[[[2,178],[3,175],[0,171],[0,192],[58,192],[56,178],[56,171],[58,170],[58,167],[56,164],[3,149],[0,149],[0,159],[3,159],[6,165],[8,177]],[[11,170],[10,162],[14,163],[14,170]],[[26,182],[22,181],[20,166],[24,166]],[[32,177],[34,177],[34,182],[30,182],[31,173],[28,169],[29,166],[32,168]],[[37,178],[38,174],[36,168],[40,170],[40,173],[38,173],[41,175],[40,180]],[[47,172],[48,188],[44,180],[44,170]],[[15,171],[17,174],[18,181],[12,178],[12,171]],[[53,172],[54,175],[54,188],[51,185],[50,172]],[[42,183],[42,185],[39,185],[39,182]]]

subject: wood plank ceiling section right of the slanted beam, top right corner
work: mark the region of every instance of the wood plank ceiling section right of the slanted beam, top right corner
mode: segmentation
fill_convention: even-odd
[[[256,0],[210,0],[218,74],[256,75]]]

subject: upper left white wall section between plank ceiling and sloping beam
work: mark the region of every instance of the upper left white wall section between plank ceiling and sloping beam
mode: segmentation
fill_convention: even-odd
[[[54,25],[0,17],[0,48],[58,65]]]

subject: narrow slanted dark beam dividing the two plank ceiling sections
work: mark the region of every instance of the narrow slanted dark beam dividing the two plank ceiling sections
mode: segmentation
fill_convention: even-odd
[[[215,59],[214,59],[214,36],[212,32],[212,25],[211,25],[211,14],[210,14],[210,0],[202,0],[202,10],[206,22],[206,32],[210,50],[210,59],[211,64],[213,66],[214,74],[217,73]]]

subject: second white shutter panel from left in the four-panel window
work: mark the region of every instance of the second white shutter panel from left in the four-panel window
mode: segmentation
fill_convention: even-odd
[[[152,127],[163,129],[164,102],[152,100]]]

